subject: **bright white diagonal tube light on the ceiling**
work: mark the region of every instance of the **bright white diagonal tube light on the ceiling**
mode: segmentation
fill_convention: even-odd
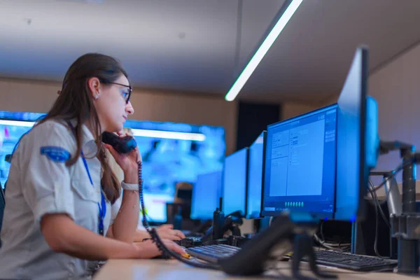
[[[251,60],[245,66],[244,71],[242,71],[235,83],[232,85],[232,87],[230,87],[230,90],[225,96],[227,101],[233,101],[237,97],[248,78],[251,77],[251,74],[257,68],[258,64],[260,64],[262,58],[268,52],[269,48],[271,48],[274,41],[276,41],[276,38],[279,36],[281,31],[283,31],[283,28],[287,25],[287,22],[290,20],[290,18],[292,18],[292,15],[300,6],[300,3],[302,3],[302,0],[293,0],[286,8],[283,15],[281,15],[279,18],[279,21],[276,23],[276,25],[274,25],[273,29],[269,32],[265,40],[262,41],[260,48],[258,48],[258,50],[255,52],[255,55],[253,55]]]

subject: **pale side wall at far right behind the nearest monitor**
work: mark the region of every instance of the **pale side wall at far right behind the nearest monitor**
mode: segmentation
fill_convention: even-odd
[[[420,45],[371,73],[369,94],[378,102],[381,139],[406,141],[420,147],[419,90]],[[377,169],[394,169],[398,164],[399,154],[393,152],[381,155]]]

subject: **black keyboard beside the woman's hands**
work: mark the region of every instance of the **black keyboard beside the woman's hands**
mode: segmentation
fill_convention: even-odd
[[[230,256],[235,255],[235,253],[239,252],[239,250],[241,250],[239,247],[218,244],[188,248],[186,252],[195,258],[199,258],[200,260],[218,263],[218,260],[222,258],[229,258]]]

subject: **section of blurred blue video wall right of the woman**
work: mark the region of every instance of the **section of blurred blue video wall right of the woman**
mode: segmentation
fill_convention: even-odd
[[[195,184],[198,174],[221,172],[223,127],[127,120],[143,158],[144,204],[151,222],[165,223],[179,182]],[[174,133],[176,132],[176,133]]]

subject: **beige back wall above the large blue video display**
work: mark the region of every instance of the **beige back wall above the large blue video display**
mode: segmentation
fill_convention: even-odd
[[[0,79],[0,110],[46,112],[57,97],[60,83]],[[134,120],[191,123],[225,127],[226,153],[236,148],[237,102],[223,97],[170,94],[155,90],[134,90]]]

